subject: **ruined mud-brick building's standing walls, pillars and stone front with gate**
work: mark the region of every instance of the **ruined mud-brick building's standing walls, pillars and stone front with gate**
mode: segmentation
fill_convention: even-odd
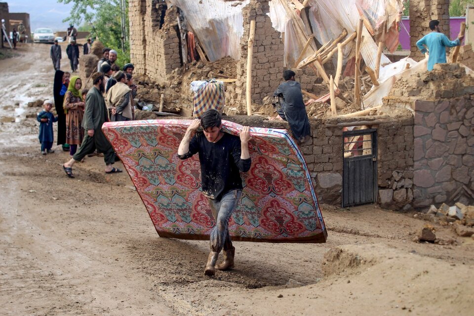
[[[184,65],[178,23],[182,12],[163,0],[130,0],[129,5],[135,71],[159,84],[179,85],[176,74],[182,73]],[[449,32],[448,8],[447,0],[410,1],[412,57],[421,57],[415,42],[429,32],[428,21],[438,19],[443,31]],[[226,85],[226,106],[234,112],[227,114],[245,113],[247,39],[252,19],[256,21],[252,101],[261,103],[281,82],[284,46],[281,34],[272,27],[269,9],[266,0],[252,0],[241,7],[243,35],[238,59],[231,65],[236,80]],[[463,50],[471,51],[469,47]],[[314,75],[305,75],[304,71],[298,73],[304,89],[321,82]],[[313,137],[300,149],[319,200],[344,206],[378,202],[397,210],[442,202],[473,203],[472,78],[459,65],[440,65],[431,73],[397,81],[377,115],[312,118]],[[284,121],[244,116],[226,119],[289,129]]]

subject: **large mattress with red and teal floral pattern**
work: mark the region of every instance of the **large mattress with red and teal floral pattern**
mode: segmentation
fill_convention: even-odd
[[[198,155],[178,146],[192,120],[107,122],[102,130],[135,185],[160,237],[209,239],[214,219],[200,191]],[[242,126],[222,121],[224,132]],[[325,242],[326,227],[306,162],[284,129],[251,127],[252,165],[229,221],[233,240]]]

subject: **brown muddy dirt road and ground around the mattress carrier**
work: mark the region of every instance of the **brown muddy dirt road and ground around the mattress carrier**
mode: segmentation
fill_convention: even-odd
[[[68,179],[59,146],[40,155],[26,104],[52,98],[49,45],[18,54],[0,61],[0,315],[472,315],[474,240],[415,242],[425,222],[374,205],[321,205],[327,243],[236,242],[236,269],[204,276],[208,243],[158,237],[126,173],[91,157]]]

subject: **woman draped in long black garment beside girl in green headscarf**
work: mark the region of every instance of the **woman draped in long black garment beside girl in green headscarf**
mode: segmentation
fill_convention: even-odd
[[[68,90],[69,77],[71,76],[68,72],[56,70],[54,74],[53,84],[53,96],[54,96],[54,107],[58,114],[58,145],[62,145],[63,151],[69,151],[69,144],[66,144],[66,114],[64,113],[63,103],[64,95]]]

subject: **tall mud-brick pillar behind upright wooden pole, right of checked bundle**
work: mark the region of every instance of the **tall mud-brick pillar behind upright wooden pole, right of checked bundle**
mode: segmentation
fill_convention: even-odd
[[[252,62],[252,102],[261,103],[263,98],[273,95],[278,84],[283,81],[284,44],[281,33],[272,27],[267,13],[270,11],[268,1],[252,0],[242,9],[244,33],[240,40],[240,60],[237,62],[237,81],[235,93],[230,103],[245,107],[245,87],[247,68],[247,41],[250,21],[255,20],[255,40],[253,42]],[[245,111],[243,111],[245,112]]]

